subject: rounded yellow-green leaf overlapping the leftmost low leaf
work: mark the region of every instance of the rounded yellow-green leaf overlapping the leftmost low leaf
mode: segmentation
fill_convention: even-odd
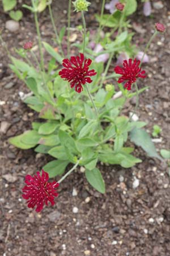
[[[24,134],[23,134],[23,137],[21,139],[21,141],[24,143],[24,144],[38,144],[39,140],[41,138],[41,135],[39,135],[37,133],[37,131],[35,130],[31,130],[31,131],[26,131]]]

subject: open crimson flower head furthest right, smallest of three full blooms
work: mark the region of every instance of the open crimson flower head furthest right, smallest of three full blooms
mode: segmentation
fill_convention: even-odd
[[[127,90],[131,90],[131,84],[133,84],[136,80],[137,77],[141,77],[141,78],[145,78],[145,71],[141,71],[141,68],[139,68],[139,64],[141,63],[140,60],[136,60],[134,59],[134,62],[132,63],[132,59],[124,60],[123,66],[124,67],[120,67],[117,66],[116,68],[114,68],[114,71],[117,74],[122,75],[119,79],[118,79],[118,83],[120,84],[121,82],[124,82],[126,80],[128,80],[126,82],[126,84],[124,85],[124,87]]]

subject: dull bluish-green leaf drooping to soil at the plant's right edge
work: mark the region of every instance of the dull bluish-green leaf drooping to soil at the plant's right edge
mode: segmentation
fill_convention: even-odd
[[[156,148],[154,143],[151,141],[150,135],[148,135],[145,130],[134,128],[130,132],[130,140],[137,146],[141,146],[149,156],[162,160],[162,158],[156,152]]]

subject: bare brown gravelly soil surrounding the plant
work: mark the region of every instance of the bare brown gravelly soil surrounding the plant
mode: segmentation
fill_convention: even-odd
[[[99,1],[98,1],[99,2]],[[170,6],[169,0],[162,1],[163,9],[153,9],[152,18],[142,14],[141,5],[131,17],[133,27],[137,23],[142,30],[135,34],[134,42],[144,49],[155,22],[167,26],[165,34],[159,34],[151,44],[145,64],[148,74],[145,79],[149,89],[139,100],[138,116],[148,123],[147,130],[158,124],[162,127],[156,143],[158,151],[170,148]],[[96,27],[94,14],[99,3],[92,1],[91,13],[87,13],[88,27]],[[53,11],[59,27],[66,24],[67,1],[54,1]],[[14,48],[23,46],[25,40],[36,44],[33,16],[24,10],[20,30],[5,30],[8,16],[1,10],[3,39],[12,54]],[[72,14],[72,26],[80,21],[79,14]],[[48,12],[40,16],[42,39],[51,42],[54,36]],[[74,31],[75,33],[75,31]],[[1,125],[6,123],[5,133],[1,131],[0,150],[0,255],[3,256],[170,256],[170,186],[168,166],[157,159],[149,158],[137,147],[135,155],[143,160],[135,167],[125,170],[117,166],[99,164],[106,193],[94,191],[84,179],[79,168],[67,177],[59,187],[59,196],[53,208],[44,208],[37,214],[27,208],[22,199],[22,187],[26,174],[35,174],[48,162],[45,155],[33,150],[19,150],[8,144],[11,136],[23,133],[31,127],[36,114],[23,104],[19,92],[28,89],[8,68],[9,60],[1,47]],[[114,67],[115,63],[112,63]],[[144,67],[143,67],[144,68]],[[113,81],[115,83],[115,81]],[[141,85],[143,81],[141,81]],[[126,105],[125,113],[134,108],[134,100]],[[133,188],[137,178],[139,186]],[[78,195],[73,196],[73,188]],[[78,213],[73,213],[73,208]]]

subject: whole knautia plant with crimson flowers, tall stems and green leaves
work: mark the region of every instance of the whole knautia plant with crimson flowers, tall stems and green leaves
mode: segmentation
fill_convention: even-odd
[[[130,47],[131,35],[128,34],[129,23],[126,20],[126,17],[133,13],[134,6],[129,0],[123,3],[116,1],[113,13],[106,18],[107,22],[110,18],[114,20],[114,25],[111,26],[111,30],[114,31],[111,31],[104,42],[100,37],[101,30],[105,26],[103,0],[101,15],[100,18],[98,17],[99,29],[94,37],[94,43],[101,43],[103,50],[96,53],[89,47],[91,39],[84,15],[90,8],[90,2],[86,0],[73,2],[74,10],[80,11],[82,15],[83,40],[82,43],[70,45],[71,1],[69,0],[68,43],[65,53],[63,36],[66,30],[62,28],[58,32],[50,5],[51,3],[48,2],[59,52],[48,43],[41,41],[37,16],[39,1],[36,0],[32,0],[32,6],[25,7],[35,16],[40,61],[33,50],[33,42],[25,42],[23,49],[16,50],[23,58],[20,60],[10,55],[2,36],[0,37],[11,60],[10,68],[32,92],[31,96],[25,98],[25,104],[39,113],[39,119],[32,123],[32,130],[10,138],[9,142],[24,150],[35,148],[36,152],[49,154],[55,159],[42,167],[41,174],[37,172],[33,177],[29,174],[25,177],[23,198],[28,200],[28,207],[36,207],[37,212],[42,210],[44,204],[48,205],[48,202],[54,204],[54,197],[58,196],[56,189],[59,184],[79,166],[84,167],[82,175],[92,187],[105,193],[105,183],[99,170],[100,162],[119,164],[124,168],[130,168],[141,162],[141,159],[131,154],[134,147],[126,146],[128,136],[148,155],[161,159],[150,136],[141,129],[146,123],[134,121],[133,116],[138,107],[139,93],[147,88],[143,86],[138,89],[137,85],[137,82],[145,81],[147,76],[147,71],[141,68],[143,58],[156,34],[164,32],[163,24],[156,23],[155,33],[151,36],[141,61],[137,60],[134,58],[135,51]],[[70,53],[72,46],[77,47],[74,55]],[[44,60],[42,47],[52,56],[49,63]],[[128,52],[129,58],[123,60],[123,66],[115,64],[114,68],[111,68],[113,57],[122,52]],[[97,56],[106,53],[109,56],[105,65],[103,61],[95,61]],[[118,85],[118,92],[113,82]],[[126,100],[133,96],[137,99],[134,113],[130,117],[121,115]],[[70,163],[72,167],[68,171]],[[50,177],[58,175],[61,176],[58,182],[49,182]]]

